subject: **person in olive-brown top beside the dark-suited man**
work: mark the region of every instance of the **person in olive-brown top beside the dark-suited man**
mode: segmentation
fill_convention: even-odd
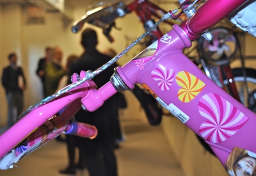
[[[45,97],[56,92],[61,77],[65,75],[65,70],[61,66],[62,51],[59,47],[54,47],[51,52],[51,59],[45,66]]]

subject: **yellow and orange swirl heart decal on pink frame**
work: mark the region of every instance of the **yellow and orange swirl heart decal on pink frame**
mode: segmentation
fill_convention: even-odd
[[[190,102],[205,87],[205,83],[189,72],[182,71],[176,76],[176,83],[181,86],[178,97],[182,102]]]

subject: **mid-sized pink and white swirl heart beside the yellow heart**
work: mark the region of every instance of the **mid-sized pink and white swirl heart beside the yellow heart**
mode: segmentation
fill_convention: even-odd
[[[170,89],[175,76],[175,70],[170,68],[155,68],[151,72],[151,77],[158,81],[158,86],[162,91]]]

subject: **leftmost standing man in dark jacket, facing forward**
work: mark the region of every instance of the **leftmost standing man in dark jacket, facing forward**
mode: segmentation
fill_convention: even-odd
[[[2,84],[6,91],[8,102],[8,128],[12,127],[15,120],[23,110],[23,92],[26,88],[26,79],[21,67],[17,66],[17,55],[8,56],[10,65],[3,70]],[[16,113],[15,113],[16,108]]]

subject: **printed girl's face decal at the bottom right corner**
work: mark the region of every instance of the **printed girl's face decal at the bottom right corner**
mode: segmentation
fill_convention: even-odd
[[[234,176],[255,175],[256,159],[248,155],[248,150],[235,147],[227,160],[227,172]]]

